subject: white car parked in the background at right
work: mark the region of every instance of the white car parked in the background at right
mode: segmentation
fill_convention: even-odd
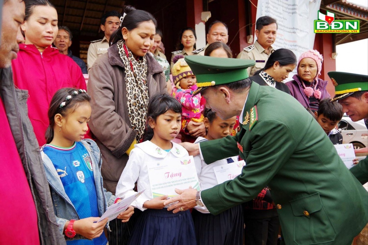
[[[344,116],[337,127],[343,135],[343,144],[353,143],[354,149],[368,146],[368,129],[364,120],[353,122],[350,117]]]

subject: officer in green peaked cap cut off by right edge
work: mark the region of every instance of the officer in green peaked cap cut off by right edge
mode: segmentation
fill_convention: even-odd
[[[328,75],[335,86],[335,97],[343,106],[343,112],[354,122],[364,119],[368,129],[368,76],[347,72],[330,71]],[[351,173],[361,182],[368,182],[368,157],[361,160]]]

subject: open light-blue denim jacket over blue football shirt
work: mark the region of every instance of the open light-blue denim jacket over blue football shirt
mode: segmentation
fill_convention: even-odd
[[[111,192],[107,192],[103,188],[103,180],[101,176],[101,165],[102,158],[100,149],[96,143],[91,139],[82,140],[83,145],[87,149],[89,156],[91,157],[92,167],[93,167],[93,177],[95,179],[96,192],[97,192],[97,203],[98,203],[98,213],[101,217],[106,211],[107,207],[114,204],[116,196]],[[54,203],[54,211],[56,215],[57,223],[59,224],[60,233],[63,234],[65,223],[69,220],[79,220],[79,216],[75,207],[69,197],[67,196],[63,183],[61,183],[60,177],[56,172],[56,169],[50,160],[50,158],[41,151],[43,166],[45,167],[47,181],[50,185],[51,195]],[[96,164],[98,163],[98,164]],[[107,230],[110,231],[109,223],[106,225]],[[75,235],[74,238],[68,238],[64,235],[65,239],[86,239],[84,236]]]

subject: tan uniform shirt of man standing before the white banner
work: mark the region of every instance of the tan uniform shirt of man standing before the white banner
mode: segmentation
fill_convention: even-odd
[[[268,53],[266,53],[266,50],[263,49],[263,47],[257,41],[255,41],[254,45],[245,47],[236,58],[255,60],[255,65],[247,68],[248,74],[251,77],[256,71],[265,67],[268,57],[270,57],[273,51],[275,51],[273,50],[273,47],[269,46]]]

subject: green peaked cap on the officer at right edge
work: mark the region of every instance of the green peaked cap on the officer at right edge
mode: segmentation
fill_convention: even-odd
[[[354,92],[368,91],[368,76],[347,72],[330,71],[327,73],[335,86],[332,101],[343,99]]]

